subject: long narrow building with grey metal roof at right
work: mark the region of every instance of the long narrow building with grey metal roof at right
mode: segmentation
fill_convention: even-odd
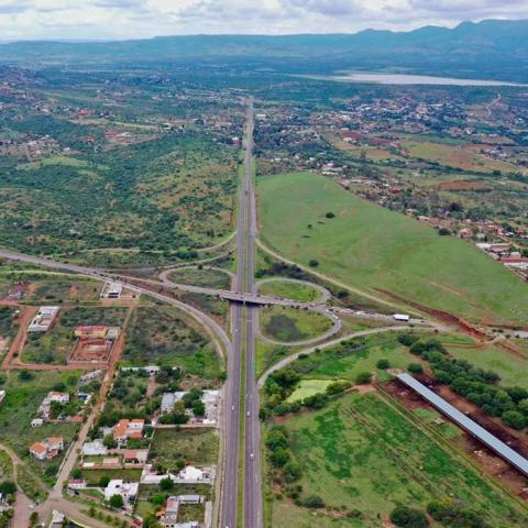
[[[421,384],[418,380],[415,380],[411,375],[398,374],[397,377],[400,382],[413,388],[413,391],[416,391],[420,396],[422,396],[430,404],[432,404],[438,410],[451,418],[455,424],[458,424],[460,427],[473,435],[482,443],[487,446],[490,449],[501,455],[504,460],[509,462],[512,465],[514,465],[528,476],[528,460],[517,453],[517,451],[514,451],[497,437],[494,437],[491,432],[486,431],[483,427],[473,421],[471,418],[468,418],[463,413],[453,407],[451,404],[448,404],[448,402],[446,402],[443,398],[427,388],[424,384]]]

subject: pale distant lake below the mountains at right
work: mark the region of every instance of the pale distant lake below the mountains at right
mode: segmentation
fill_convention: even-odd
[[[429,75],[405,74],[345,74],[332,75],[333,80],[346,82],[377,82],[380,85],[442,85],[442,86],[527,86],[502,80],[455,79],[451,77],[433,77]]]

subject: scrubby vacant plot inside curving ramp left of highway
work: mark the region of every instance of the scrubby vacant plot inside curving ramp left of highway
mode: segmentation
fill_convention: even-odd
[[[217,351],[201,329],[166,306],[141,306],[129,323],[122,355],[127,364],[180,366],[185,374],[215,378],[222,369]]]

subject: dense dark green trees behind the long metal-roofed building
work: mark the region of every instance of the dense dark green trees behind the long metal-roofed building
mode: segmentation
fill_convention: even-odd
[[[398,340],[402,342],[402,339]],[[404,340],[408,342],[408,338]],[[520,430],[528,425],[528,391],[525,388],[499,386],[501,376],[497,373],[451,358],[435,339],[415,341],[409,351],[431,365],[437,382],[449,385],[487,416],[498,417],[514,429]]]

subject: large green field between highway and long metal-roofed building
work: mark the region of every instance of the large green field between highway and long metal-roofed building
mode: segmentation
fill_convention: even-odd
[[[301,498],[319,509],[274,499],[274,528],[378,527],[399,504],[424,510],[432,499],[458,499],[494,528],[525,526],[528,510],[493,485],[448,444],[439,444],[377,394],[348,394],[283,422],[300,465]],[[342,505],[361,520],[339,516]]]

